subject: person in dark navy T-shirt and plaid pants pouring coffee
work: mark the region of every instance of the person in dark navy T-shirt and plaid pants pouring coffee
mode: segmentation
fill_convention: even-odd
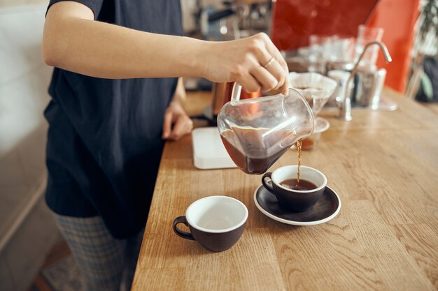
[[[285,61],[264,33],[218,43],[182,34],[179,0],[49,3],[46,202],[88,290],[132,281],[164,140],[192,130],[178,77],[249,92],[288,87]]]

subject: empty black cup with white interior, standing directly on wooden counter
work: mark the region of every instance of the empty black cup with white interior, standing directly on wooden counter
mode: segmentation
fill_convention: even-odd
[[[175,218],[174,232],[183,239],[197,241],[204,248],[220,252],[231,248],[240,239],[248,219],[245,204],[228,196],[209,196],[188,207],[185,216]],[[178,228],[184,223],[190,229]]]

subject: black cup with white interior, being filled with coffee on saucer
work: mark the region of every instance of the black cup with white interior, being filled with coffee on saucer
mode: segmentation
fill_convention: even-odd
[[[327,178],[322,172],[303,165],[299,169],[300,179],[310,181],[316,185],[316,188],[302,191],[281,185],[287,179],[297,179],[297,165],[279,167],[274,172],[267,172],[262,177],[264,188],[276,195],[278,204],[282,208],[294,212],[303,212],[313,207],[323,195],[327,185]],[[271,179],[272,182],[269,183],[268,179]]]

